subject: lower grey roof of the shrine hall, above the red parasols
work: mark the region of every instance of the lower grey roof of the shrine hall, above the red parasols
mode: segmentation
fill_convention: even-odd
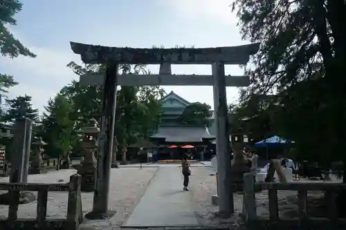
[[[213,140],[207,127],[201,126],[161,126],[158,133],[151,138],[165,138],[166,142],[202,142],[203,139]]]

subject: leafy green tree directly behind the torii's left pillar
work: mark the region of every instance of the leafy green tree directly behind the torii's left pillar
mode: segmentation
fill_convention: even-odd
[[[68,67],[77,75],[85,73],[105,73],[105,66],[80,66],[71,62]],[[146,72],[143,65],[121,65],[120,73]],[[147,73],[147,72],[146,72]],[[102,110],[102,86],[80,86],[73,81],[62,88],[64,95],[72,105],[71,119],[75,120],[75,130],[82,128],[90,118],[100,119]],[[161,113],[159,99],[164,90],[158,86],[121,86],[117,93],[115,134],[122,146],[133,144],[138,137],[147,137],[153,126],[158,124]]]

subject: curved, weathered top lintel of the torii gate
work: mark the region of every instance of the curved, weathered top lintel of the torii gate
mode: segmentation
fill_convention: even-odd
[[[246,64],[260,48],[260,43],[216,48],[120,48],[72,41],[70,44],[85,64]]]

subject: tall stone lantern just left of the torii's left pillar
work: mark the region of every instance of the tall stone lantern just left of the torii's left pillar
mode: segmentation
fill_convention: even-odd
[[[82,191],[94,191],[97,161],[95,151],[98,148],[97,137],[100,133],[98,122],[89,119],[88,124],[82,128],[82,148],[84,148],[84,160],[80,163],[77,173],[82,175]]]

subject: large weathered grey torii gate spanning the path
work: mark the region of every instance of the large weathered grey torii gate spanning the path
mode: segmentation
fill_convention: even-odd
[[[93,211],[87,218],[107,218],[111,153],[114,134],[117,86],[213,86],[217,124],[217,186],[219,213],[233,213],[230,190],[230,143],[226,86],[248,86],[245,76],[225,76],[225,64],[246,64],[260,44],[218,48],[117,48],[71,42],[71,49],[85,64],[107,64],[106,75],[82,75],[80,84],[103,85],[102,117],[98,140],[98,169]],[[158,75],[118,75],[119,64],[159,64]],[[171,64],[211,64],[212,75],[172,75]]]

